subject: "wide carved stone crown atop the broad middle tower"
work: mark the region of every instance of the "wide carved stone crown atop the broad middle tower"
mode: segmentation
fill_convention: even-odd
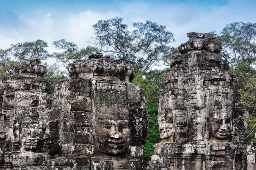
[[[137,73],[134,62],[127,60],[113,60],[109,56],[94,54],[89,59],[78,60],[67,65],[67,70],[72,79],[92,78],[98,76],[116,76],[120,80],[131,82]]]

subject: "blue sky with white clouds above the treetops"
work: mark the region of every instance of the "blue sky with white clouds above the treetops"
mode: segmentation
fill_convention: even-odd
[[[0,0],[0,49],[10,44],[62,38],[79,47],[90,45],[92,25],[120,16],[133,22],[150,20],[166,26],[176,40],[186,33],[220,31],[232,22],[256,22],[255,0]]]

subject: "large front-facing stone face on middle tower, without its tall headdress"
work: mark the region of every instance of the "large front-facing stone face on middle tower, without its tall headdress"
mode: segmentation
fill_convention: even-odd
[[[124,155],[129,145],[129,112],[124,106],[99,107],[96,116],[95,148],[107,155]]]

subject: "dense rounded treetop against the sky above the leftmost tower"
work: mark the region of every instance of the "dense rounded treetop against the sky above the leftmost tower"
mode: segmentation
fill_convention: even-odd
[[[45,49],[47,47],[47,42],[43,40],[36,40],[33,42],[11,44],[9,50],[16,60],[45,60],[50,57],[48,51]]]

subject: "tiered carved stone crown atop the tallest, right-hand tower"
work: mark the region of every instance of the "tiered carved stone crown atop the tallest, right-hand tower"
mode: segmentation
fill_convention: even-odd
[[[214,52],[220,53],[221,46],[213,42],[216,34],[213,33],[187,33],[189,40],[181,44],[178,48],[181,54],[188,54],[192,52]]]

